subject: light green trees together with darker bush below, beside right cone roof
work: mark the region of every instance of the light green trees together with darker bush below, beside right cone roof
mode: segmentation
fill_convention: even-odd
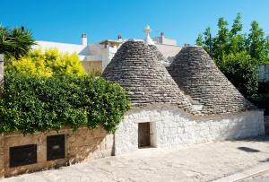
[[[248,99],[258,94],[257,65],[269,64],[269,37],[251,23],[248,33],[242,33],[241,15],[238,13],[231,28],[223,18],[218,21],[218,33],[212,36],[210,28],[199,34],[196,44],[212,56],[213,61],[241,93]]]

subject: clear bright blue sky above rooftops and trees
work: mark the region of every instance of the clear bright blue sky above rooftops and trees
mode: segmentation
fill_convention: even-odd
[[[161,31],[178,44],[195,43],[199,32],[210,26],[216,32],[219,17],[230,23],[242,14],[244,30],[256,20],[269,34],[268,0],[0,0],[0,23],[30,29],[35,39],[80,43],[143,38],[150,24],[152,37]]]

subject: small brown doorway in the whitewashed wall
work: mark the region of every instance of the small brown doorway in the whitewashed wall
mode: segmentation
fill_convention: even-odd
[[[151,126],[150,123],[138,124],[138,147],[151,146]]]

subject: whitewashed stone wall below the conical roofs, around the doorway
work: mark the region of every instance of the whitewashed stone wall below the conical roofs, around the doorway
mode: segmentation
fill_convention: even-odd
[[[115,134],[115,155],[138,149],[138,123],[151,123],[153,147],[175,147],[265,133],[263,111],[211,117],[191,117],[179,108],[167,106],[133,108]]]

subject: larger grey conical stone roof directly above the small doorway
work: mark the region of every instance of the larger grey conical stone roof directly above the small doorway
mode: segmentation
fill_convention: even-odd
[[[142,41],[126,41],[117,50],[102,77],[124,87],[135,107],[177,104],[179,108],[193,112],[190,101],[178,89],[151,48]]]

